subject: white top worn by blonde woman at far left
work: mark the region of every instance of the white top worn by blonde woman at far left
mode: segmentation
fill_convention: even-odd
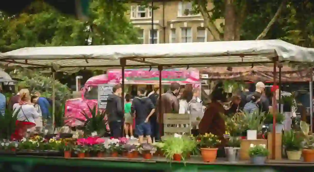
[[[36,111],[35,107],[29,104],[23,104],[22,106],[18,103],[13,105],[13,115],[22,108],[18,115],[17,120],[19,121],[25,121],[25,122],[32,122],[35,123],[35,119],[39,117],[38,112]]]

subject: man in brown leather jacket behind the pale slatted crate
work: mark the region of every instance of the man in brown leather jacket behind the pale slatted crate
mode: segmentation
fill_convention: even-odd
[[[158,116],[157,120],[159,124],[163,124],[164,114],[179,113],[179,99],[177,98],[179,89],[180,89],[179,83],[171,83],[170,90],[164,94],[161,94],[161,109],[159,105],[160,98],[158,98],[156,109],[157,109],[157,116]],[[163,133],[161,134],[163,135]]]

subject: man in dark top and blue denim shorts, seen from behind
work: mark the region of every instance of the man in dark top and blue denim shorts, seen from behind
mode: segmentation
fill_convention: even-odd
[[[152,101],[145,96],[145,89],[139,88],[131,105],[131,114],[135,112],[135,133],[138,135],[138,141],[143,143],[144,134],[146,135],[147,143],[152,143],[151,126],[149,122],[150,116],[155,112],[155,106]]]

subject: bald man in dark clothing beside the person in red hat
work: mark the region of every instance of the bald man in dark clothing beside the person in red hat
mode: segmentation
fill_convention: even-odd
[[[263,82],[256,83],[256,90],[255,90],[255,92],[258,92],[258,93],[262,94],[261,101],[259,101],[257,103],[258,104],[258,108],[259,108],[260,111],[268,113],[268,111],[269,111],[269,101],[268,101],[267,97],[265,96],[265,94],[263,94],[264,90],[265,90],[265,84]],[[255,92],[253,92],[252,94],[250,94],[250,95],[248,95],[246,97],[246,101],[247,102],[251,101],[252,95]]]

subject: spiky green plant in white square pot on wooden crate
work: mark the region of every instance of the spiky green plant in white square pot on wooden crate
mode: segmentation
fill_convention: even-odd
[[[243,113],[241,115],[242,123],[245,124],[246,127],[246,139],[248,140],[256,140],[257,139],[257,131],[262,129],[262,124],[264,121],[264,112],[254,111],[253,113]]]

